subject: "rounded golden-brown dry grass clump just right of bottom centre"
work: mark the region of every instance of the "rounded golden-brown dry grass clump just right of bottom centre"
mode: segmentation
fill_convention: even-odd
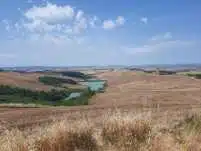
[[[116,113],[104,120],[101,135],[106,145],[139,150],[151,137],[151,125],[148,120]]]

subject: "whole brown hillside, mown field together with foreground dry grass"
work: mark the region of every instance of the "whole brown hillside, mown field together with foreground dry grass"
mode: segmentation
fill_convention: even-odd
[[[96,76],[108,80],[108,86],[88,106],[0,108],[0,131],[19,129],[2,135],[1,140],[8,138],[20,146],[24,141],[18,138],[27,138],[30,146],[40,146],[36,151],[57,151],[58,145],[63,150],[72,147],[69,151],[83,147],[86,151],[91,147],[97,151],[200,150],[201,80],[132,71]]]

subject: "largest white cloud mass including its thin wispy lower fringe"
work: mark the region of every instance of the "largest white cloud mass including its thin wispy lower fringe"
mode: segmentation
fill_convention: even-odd
[[[122,24],[122,18],[118,19]],[[90,17],[83,10],[76,11],[70,5],[56,5],[47,2],[45,5],[33,6],[24,13],[19,25],[28,32],[59,32],[60,34],[79,34],[87,28],[98,27],[97,16]]]

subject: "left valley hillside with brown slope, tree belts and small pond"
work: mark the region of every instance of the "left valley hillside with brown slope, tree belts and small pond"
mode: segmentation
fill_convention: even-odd
[[[91,96],[95,94],[88,86],[79,83],[79,76],[87,75],[70,71],[65,73],[70,73],[70,76],[49,72],[1,72],[0,104],[87,105]],[[69,77],[79,79],[75,81]]]

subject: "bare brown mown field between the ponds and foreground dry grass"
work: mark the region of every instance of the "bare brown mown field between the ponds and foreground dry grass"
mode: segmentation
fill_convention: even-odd
[[[174,114],[176,117],[181,112],[201,107],[201,80],[180,75],[159,76],[131,71],[108,71],[97,73],[97,76],[108,80],[108,87],[104,93],[94,96],[90,105],[56,108],[1,107],[0,130],[30,128],[63,116],[72,120],[88,116],[98,122],[105,112],[116,108],[133,112],[152,110],[156,117],[163,117],[168,112],[169,116],[173,117]]]

